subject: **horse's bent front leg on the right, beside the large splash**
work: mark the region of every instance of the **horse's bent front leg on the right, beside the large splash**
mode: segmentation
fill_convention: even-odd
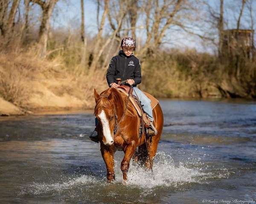
[[[130,144],[128,144],[125,148],[125,156],[124,159],[121,162],[121,170],[123,173],[123,179],[126,181],[127,180],[127,172],[130,166],[130,160],[132,158],[132,156],[134,155],[134,152],[136,150],[136,144],[135,142],[131,142]]]

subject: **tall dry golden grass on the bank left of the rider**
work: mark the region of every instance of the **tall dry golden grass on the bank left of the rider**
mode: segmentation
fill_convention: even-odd
[[[33,111],[93,108],[93,88],[107,88],[104,71],[88,76],[61,56],[39,59],[33,48],[1,54],[0,74],[0,96]]]

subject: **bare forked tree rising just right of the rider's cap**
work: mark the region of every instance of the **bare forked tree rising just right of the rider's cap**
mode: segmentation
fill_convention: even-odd
[[[189,19],[192,11],[192,1],[189,0],[142,0],[145,13],[146,40],[138,55],[143,59],[152,48],[158,48],[171,26],[186,30],[185,19]]]

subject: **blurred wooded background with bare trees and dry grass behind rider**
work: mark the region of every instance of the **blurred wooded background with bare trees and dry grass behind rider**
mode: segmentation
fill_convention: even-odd
[[[52,26],[74,4],[79,26]],[[93,32],[85,25],[89,4]],[[0,0],[0,96],[50,107],[35,99],[50,91],[48,98],[68,94],[76,104],[63,107],[90,108],[93,88],[107,88],[109,61],[129,36],[142,64],[140,88],[157,97],[256,98],[255,22],[256,0]],[[177,44],[186,36],[199,51]]]

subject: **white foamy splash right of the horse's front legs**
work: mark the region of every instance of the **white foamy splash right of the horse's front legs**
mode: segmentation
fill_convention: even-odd
[[[118,172],[119,164],[116,164],[115,171]],[[135,185],[141,188],[154,188],[157,186],[177,186],[191,182],[201,182],[201,177],[206,174],[200,170],[189,169],[181,162],[177,165],[170,155],[164,152],[157,153],[151,170],[145,171],[138,164],[130,164],[128,171],[127,185]],[[122,181],[122,173],[116,174],[116,182]]]

